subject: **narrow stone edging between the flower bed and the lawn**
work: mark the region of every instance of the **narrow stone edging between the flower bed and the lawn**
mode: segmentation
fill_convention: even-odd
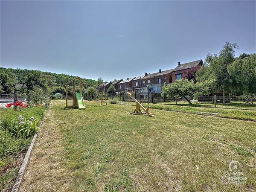
[[[43,119],[42,119],[42,122],[43,122]],[[43,124],[42,122],[40,123],[39,128],[41,128],[41,126]],[[20,170],[19,170],[18,175],[16,177],[15,183],[12,186],[12,191],[11,192],[20,192],[20,186],[21,186],[21,183],[23,181],[23,176],[25,175],[26,168],[27,168],[28,163],[29,163],[29,158],[31,156],[32,149],[34,148],[35,140],[38,137],[39,131],[34,135],[32,141],[29,145],[29,148],[28,148],[28,150],[26,152],[26,155],[25,155],[25,157],[22,161],[22,164],[20,166]]]

